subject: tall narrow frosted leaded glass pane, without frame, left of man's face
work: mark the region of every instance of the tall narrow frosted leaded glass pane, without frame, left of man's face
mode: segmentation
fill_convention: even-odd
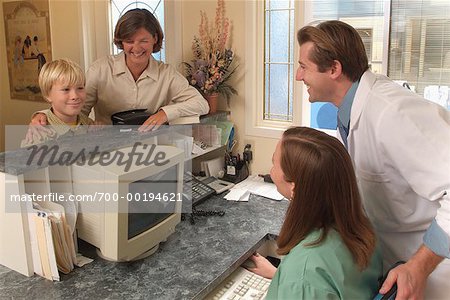
[[[292,121],[294,1],[265,1],[264,120]]]

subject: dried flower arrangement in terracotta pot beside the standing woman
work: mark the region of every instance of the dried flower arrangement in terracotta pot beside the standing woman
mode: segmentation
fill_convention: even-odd
[[[194,36],[191,63],[184,62],[184,72],[189,83],[196,87],[208,100],[210,113],[217,110],[217,98],[222,95],[227,104],[233,94],[237,95],[229,83],[237,66],[234,53],[227,48],[230,22],[225,17],[224,0],[217,1],[216,18],[210,23],[205,12],[200,11],[199,36]]]

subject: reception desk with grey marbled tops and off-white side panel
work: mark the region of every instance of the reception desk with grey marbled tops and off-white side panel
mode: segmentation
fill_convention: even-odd
[[[95,147],[97,151],[110,151],[155,139],[161,133],[167,131],[139,133],[111,128],[63,137],[49,146],[58,143],[62,152],[84,149],[87,153]],[[38,182],[34,189],[41,189],[43,194],[70,192],[70,166],[53,167],[50,157],[27,163],[28,158],[26,149],[0,154],[0,299],[201,299],[244,262],[261,240],[278,234],[287,208],[286,201],[256,196],[249,202],[229,202],[214,196],[198,208],[223,210],[223,217],[197,217],[194,225],[182,221],[155,254],[139,261],[103,260],[94,247],[79,240],[79,252],[94,261],[68,275],[60,273],[61,281],[52,282],[33,275],[24,203],[7,200],[8,194],[26,193],[26,178],[31,175],[34,179],[29,182]]]

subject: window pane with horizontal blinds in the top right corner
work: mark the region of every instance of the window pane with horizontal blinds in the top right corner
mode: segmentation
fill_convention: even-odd
[[[388,74],[450,109],[449,1],[392,0]]]

